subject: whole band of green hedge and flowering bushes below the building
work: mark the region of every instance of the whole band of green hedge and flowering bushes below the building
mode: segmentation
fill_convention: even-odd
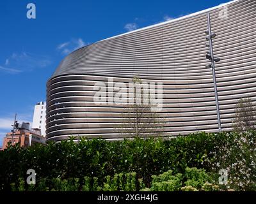
[[[0,151],[0,191],[138,191],[157,182],[164,183],[160,187],[154,184],[156,188],[178,191],[186,185],[202,188],[208,181],[205,172],[218,174],[221,168],[228,168],[231,179],[243,181],[245,177],[250,181],[236,187],[239,182],[232,179],[232,188],[253,190],[255,144],[256,133],[251,131],[196,133],[168,140],[134,138],[122,142],[81,138],[76,143],[70,138],[26,149],[14,145]],[[26,171],[31,168],[36,171],[35,186],[25,182]]]

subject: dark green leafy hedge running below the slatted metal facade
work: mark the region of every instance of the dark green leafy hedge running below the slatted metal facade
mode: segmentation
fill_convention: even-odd
[[[256,134],[252,135],[255,138]],[[196,133],[171,140],[135,138],[106,142],[81,138],[76,143],[71,138],[26,149],[15,145],[0,152],[0,190],[10,191],[12,183],[20,178],[26,180],[28,169],[36,171],[36,180],[95,177],[99,186],[104,185],[107,176],[135,172],[136,180],[141,179],[145,187],[150,187],[152,175],[168,170],[183,174],[187,167],[196,167],[218,172],[217,168],[212,169],[212,164],[219,161],[216,151],[234,144],[234,138],[237,133]]]

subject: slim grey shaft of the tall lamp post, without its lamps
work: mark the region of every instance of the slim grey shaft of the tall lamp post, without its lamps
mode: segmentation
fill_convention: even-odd
[[[208,17],[208,31],[209,31],[209,44],[211,50],[211,58],[212,58],[212,77],[213,77],[213,84],[214,84],[214,93],[215,93],[215,101],[216,101],[216,110],[217,110],[217,117],[218,117],[218,126],[219,132],[221,132],[221,122],[220,122],[220,108],[219,108],[219,99],[218,99],[218,91],[217,91],[217,83],[216,83],[216,75],[215,75],[215,64],[214,64],[214,55],[213,55],[213,48],[212,48],[212,31],[211,31],[211,19],[210,13],[207,13]]]

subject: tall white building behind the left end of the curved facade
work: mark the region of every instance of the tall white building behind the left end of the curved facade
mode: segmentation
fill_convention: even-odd
[[[35,105],[34,116],[33,116],[33,125],[32,129],[40,129],[41,135],[45,136],[45,115],[46,115],[46,103],[39,102]]]

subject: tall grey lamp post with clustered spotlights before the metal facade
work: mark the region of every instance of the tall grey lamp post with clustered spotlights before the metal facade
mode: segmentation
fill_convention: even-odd
[[[210,13],[207,13],[208,18],[208,30],[205,31],[205,34],[208,34],[206,40],[209,41],[206,43],[206,47],[209,47],[210,50],[207,51],[206,59],[211,61],[211,64],[207,64],[206,68],[212,69],[212,77],[213,77],[213,84],[214,84],[214,94],[215,94],[215,102],[216,102],[216,110],[217,110],[217,118],[218,118],[218,128],[219,132],[221,132],[221,121],[220,121],[220,108],[219,108],[219,99],[218,99],[218,91],[217,91],[217,83],[216,83],[216,75],[215,75],[215,62],[220,62],[220,58],[214,58],[213,54],[213,47],[212,47],[212,38],[216,37],[215,33],[211,31],[211,18]]]

